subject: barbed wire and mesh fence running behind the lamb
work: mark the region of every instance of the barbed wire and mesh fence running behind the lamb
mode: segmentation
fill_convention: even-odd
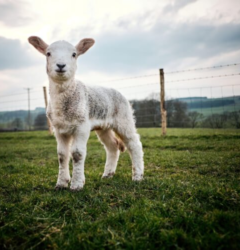
[[[165,105],[159,73],[100,81],[131,102],[137,127],[240,128],[240,63],[181,71],[165,70]],[[162,106],[161,106],[162,105]],[[0,95],[0,130],[47,129],[43,89]]]

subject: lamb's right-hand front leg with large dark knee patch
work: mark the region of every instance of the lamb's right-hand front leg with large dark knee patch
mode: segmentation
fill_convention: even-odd
[[[70,189],[78,191],[83,188],[85,184],[84,163],[87,151],[87,141],[90,131],[78,132],[72,143],[72,160],[73,160],[73,173]]]

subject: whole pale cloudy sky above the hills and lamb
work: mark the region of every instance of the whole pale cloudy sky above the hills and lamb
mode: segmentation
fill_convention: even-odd
[[[240,95],[240,65],[167,74],[240,63],[239,0],[0,0],[0,31],[0,111],[27,109],[26,88],[31,107],[44,106],[46,59],[32,35],[48,44],[93,38],[76,78],[129,99],[159,93],[159,68],[168,98]]]

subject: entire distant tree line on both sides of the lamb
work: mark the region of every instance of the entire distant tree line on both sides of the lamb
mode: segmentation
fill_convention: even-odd
[[[190,110],[190,108],[193,107],[193,103],[190,99],[191,98],[188,98],[188,100],[186,100],[186,98],[184,100],[175,99],[165,102],[167,110],[167,127],[240,128],[240,110],[234,112],[223,112],[221,114],[211,114],[206,116],[201,112]],[[198,105],[200,102],[201,100],[197,101]],[[205,105],[209,105],[210,102],[214,103],[214,101],[211,100],[204,100],[204,102],[206,103]],[[231,101],[224,100],[225,105],[230,102]],[[137,127],[140,128],[161,126],[160,102],[157,99],[153,97],[151,99],[145,100],[132,100],[131,105],[134,110]],[[220,100],[216,100],[215,107],[219,105]],[[45,109],[37,108],[34,112],[35,113],[32,113],[31,115],[30,128],[34,130],[47,129]],[[13,118],[14,115],[16,115],[15,118]],[[1,116],[2,119],[0,119],[0,129],[29,129],[27,111],[7,112],[0,115],[0,118]]]

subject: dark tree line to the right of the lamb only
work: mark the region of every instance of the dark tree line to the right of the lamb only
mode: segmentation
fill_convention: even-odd
[[[137,127],[159,127],[161,125],[160,102],[158,100],[133,100],[131,104]],[[219,101],[216,102],[217,105],[219,105]],[[169,128],[240,128],[239,110],[206,116],[197,111],[190,111],[189,103],[177,99],[166,101],[165,107],[167,127]]]

